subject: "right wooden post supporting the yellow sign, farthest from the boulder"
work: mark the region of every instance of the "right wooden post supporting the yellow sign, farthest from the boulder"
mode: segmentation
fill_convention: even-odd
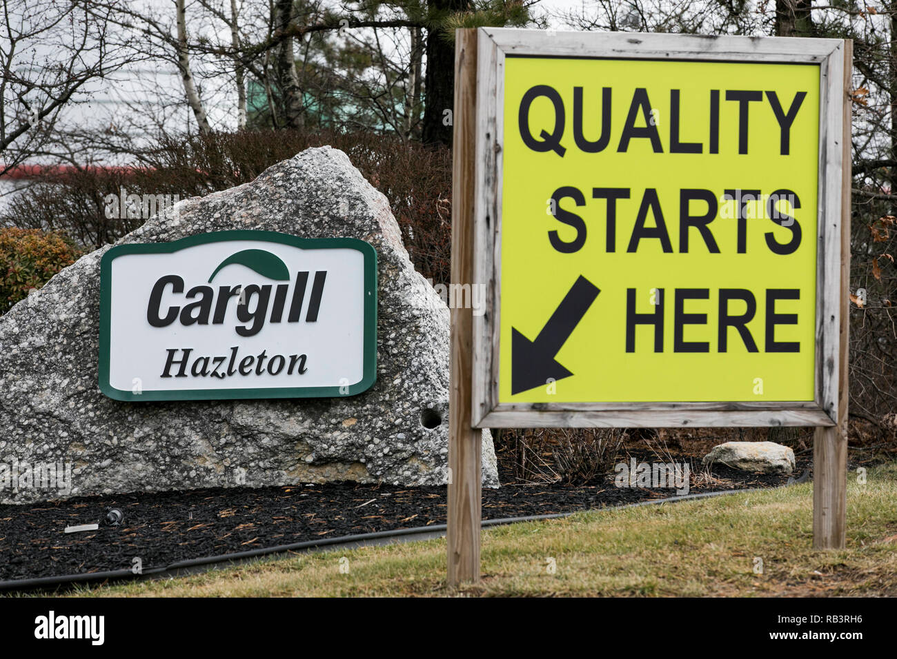
[[[813,438],[813,547],[843,549],[847,516],[847,415],[850,329],[850,149],[853,41],[844,43],[844,134],[841,175],[838,425]]]

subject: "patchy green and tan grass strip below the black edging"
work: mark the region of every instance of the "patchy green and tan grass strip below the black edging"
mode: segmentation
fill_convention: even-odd
[[[897,595],[897,464],[849,474],[847,549],[814,551],[812,483],[483,532],[483,580],[445,585],[445,541],[267,559],[78,596]],[[341,559],[348,567],[341,573]],[[553,559],[555,570],[548,570]],[[754,572],[762,559],[762,574]]]

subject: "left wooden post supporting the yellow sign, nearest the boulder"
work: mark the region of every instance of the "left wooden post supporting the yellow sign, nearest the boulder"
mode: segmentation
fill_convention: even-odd
[[[476,30],[455,30],[451,282],[473,285]],[[460,299],[456,296],[457,299]],[[448,585],[480,580],[481,433],[471,418],[473,308],[451,311],[448,395]]]

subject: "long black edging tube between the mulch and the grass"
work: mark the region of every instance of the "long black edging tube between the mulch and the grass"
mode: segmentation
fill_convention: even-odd
[[[787,487],[779,485],[777,487]],[[639,506],[649,506],[659,503],[676,503],[678,501],[687,501],[691,499],[706,499],[709,497],[718,497],[727,494],[743,494],[745,492],[756,492],[769,490],[772,488],[747,488],[745,490],[723,490],[717,492],[701,492],[699,494],[683,494],[675,497],[666,497],[664,499],[647,499],[645,501],[637,501],[636,503],[624,504],[623,506],[611,506],[603,508],[582,508],[579,510],[571,510],[567,513],[553,513],[552,515],[527,515],[521,517],[501,517],[500,519],[484,519],[481,525],[483,527],[499,526],[514,524],[517,522],[535,522],[543,519],[560,519],[569,517],[579,513],[600,511],[600,510],[616,510],[620,508],[630,508]],[[177,577],[185,572],[199,571],[196,568],[212,567],[218,563],[237,563],[250,559],[257,559],[270,554],[279,554],[289,551],[310,551],[314,549],[335,550],[335,549],[354,549],[365,545],[384,545],[392,542],[409,542],[414,540],[415,535],[425,536],[425,539],[441,537],[445,535],[446,525],[430,525],[417,526],[410,529],[396,529],[393,531],[377,531],[374,533],[358,533],[356,535],[344,535],[339,538],[327,538],[323,540],[309,540],[305,542],[293,542],[292,544],[275,545],[274,547],[263,547],[256,550],[237,551],[230,554],[221,554],[219,556],[207,556],[201,559],[179,560],[171,563],[165,568],[148,568],[138,573],[130,569],[109,570],[106,572],[83,572],[74,575],[62,575],[60,577],[35,577],[31,579],[14,579],[12,581],[0,581],[0,591],[7,590],[33,590],[35,588],[52,588],[60,585],[75,585],[96,581],[123,581],[123,580],[140,580],[146,578],[161,577]]]

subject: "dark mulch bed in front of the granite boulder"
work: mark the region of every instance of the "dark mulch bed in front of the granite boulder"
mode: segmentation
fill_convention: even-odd
[[[808,463],[808,456],[798,456],[795,475],[803,473]],[[715,467],[713,473],[719,481],[692,486],[691,493],[771,487],[788,481],[788,476],[745,474],[723,466]],[[674,490],[616,488],[612,476],[581,487],[506,485],[483,490],[483,519],[619,506],[674,494]],[[124,524],[64,533],[65,526],[100,522],[111,507],[124,511]],[[351,482],[135,493],[0,506],[0,581],[130,569],[135,557],[141,559],[144,570],[164,568],[185,559],[445,522],[445,487]]]

